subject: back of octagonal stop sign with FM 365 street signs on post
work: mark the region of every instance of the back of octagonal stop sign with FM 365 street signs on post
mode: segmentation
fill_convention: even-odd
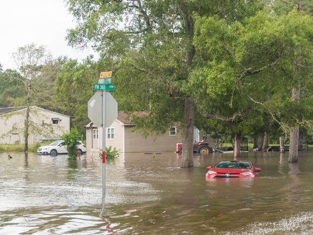
[[[106,125],[111,126],[117,118],[117,102],[112,94],[106,91],[114,91],[115,85],[111,83],[112,71],[101,72],[98,83],[93,85],[96,92],[88,101],[88,118],[97,127],[102,126],[102,164],[103,185],[102,200],[106,196]],[[105,78],[105,79],[104,79]]]

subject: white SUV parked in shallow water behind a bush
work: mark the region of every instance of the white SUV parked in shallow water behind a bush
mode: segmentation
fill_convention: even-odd
[[[78,151],[80,151],[80,154],[86,152],[86,145],[83,144],[82,141],[77,141],[76,144],[78,147]],[[67,148],[64,141],[54,141],[47,146],[39,147],[37,149],[37,154],[67,154]]]

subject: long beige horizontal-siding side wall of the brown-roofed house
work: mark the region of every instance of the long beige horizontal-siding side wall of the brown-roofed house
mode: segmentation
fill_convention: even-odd
[[[169,132],[157,136],[150,135],[147,139],[132,131],[132,126],[124,126],[125,152],[169,152],[176,151],[176,144],[182,142],[181,134],[170,136]]]

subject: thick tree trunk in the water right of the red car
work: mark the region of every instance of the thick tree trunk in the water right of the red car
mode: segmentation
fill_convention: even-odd
[[[300,101],[300,90],[292,88],[292,101]],[[289,163],[298,162],[298,145],[299,145],[299,125],[297,125],[290,133],[289,143]]]

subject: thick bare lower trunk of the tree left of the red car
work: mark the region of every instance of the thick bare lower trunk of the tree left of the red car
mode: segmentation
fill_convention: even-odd
[[[180,167],[194,165],[193,140],[196,107],[192,97],[185,98],[184,126],[182,137],[182,160]]]

